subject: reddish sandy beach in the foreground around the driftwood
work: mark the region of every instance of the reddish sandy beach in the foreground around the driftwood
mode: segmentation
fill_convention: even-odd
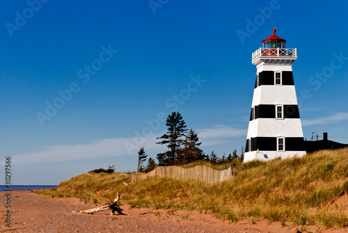
[[[200,211],[131,208],[121,205],[125,215],[110,216],[109,211],[95,214],[72,214],[102,204],[85,204],[76,198],[50,198],[31,191],[11,192],[11,227],[6,226],[6,193],[1,193],[1,232],[296,232],[301,226],[269,223],[252,224],[246,218],[237,224],[218,220]],[[122,195],[121,195],[122,200]],[[315,225],[306,230],[316,232]],[[345,229],[321,229],[320,232],[346,232]]]

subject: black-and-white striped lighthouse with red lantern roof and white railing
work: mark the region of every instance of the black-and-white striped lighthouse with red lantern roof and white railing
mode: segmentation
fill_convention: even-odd
[[[306,154],[292,76],[296,48],[287,49],[285,42],[275,28],[253,52],[251,62],[257,71],[244,162]]]

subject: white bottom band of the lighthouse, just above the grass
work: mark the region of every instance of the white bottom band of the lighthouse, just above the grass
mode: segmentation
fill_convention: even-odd
[[[260,160],[260,161],[269,161],[271,159],[281,158],[281,159],[287,159],[291,158],[293,156],[302,157],[305,155],[305,151],[286,151],[286,152],[277,152],[277,151],[252,151],[252,152],[245,152],[244,153],[244,163],[253,161],[253,160]]]

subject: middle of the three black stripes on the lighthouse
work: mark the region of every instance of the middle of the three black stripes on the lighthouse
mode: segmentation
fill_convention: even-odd
[[[283,118],[300,118],[299,106],[295,104],[283,105]],[[276,118],[276,105],[260,104],[255,106],[255,119]],[[251,109],[250,120],[253,120],[253,109]]]

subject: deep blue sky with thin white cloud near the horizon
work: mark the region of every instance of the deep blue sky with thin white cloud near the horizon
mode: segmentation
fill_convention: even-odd
[[[0,170],[12,156],[13,184],[59,184],[109,165],[134,171],[140,147],[152,158],[167,149],[156,137],[175,110],[204,152],[240,154],[255,83],[251,54],[275,26],[297,48],[304,137],[327,131],[348,143],[345,1],[0,6]]]

